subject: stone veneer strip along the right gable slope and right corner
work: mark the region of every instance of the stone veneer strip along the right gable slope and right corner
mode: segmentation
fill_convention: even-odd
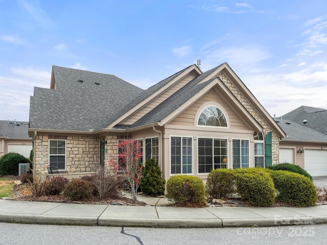
[[[250,112],[250,114],[262,125],[264,128],[265,136],[267,133],[272,132],[266,122],[262,117],[253,109],[253,107],[248,103],[244,96],[239,92],[239,90],[228,80],[228,78],[220,72],[218,76],[221,81],[229,88],[229,90],[235,95],[235,97],[242,103],[242,105]],[[279,148],[279,139],[277,135],[272,132],[272,164],[278,163],[278,148]]]

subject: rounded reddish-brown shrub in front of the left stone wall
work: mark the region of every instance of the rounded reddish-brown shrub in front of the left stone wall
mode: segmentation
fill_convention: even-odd
[[[64,197],[71,201],[83,201],[92,197],[92,185],[81,179],[72,179],[63,189]]]

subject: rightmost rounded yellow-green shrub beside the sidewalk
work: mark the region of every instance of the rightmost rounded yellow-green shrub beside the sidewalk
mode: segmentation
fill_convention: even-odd
[[[284,170],[272,171],[270,175],[277,201],[299,207],[310,207],[317,202],[317,190],[309,178]]]

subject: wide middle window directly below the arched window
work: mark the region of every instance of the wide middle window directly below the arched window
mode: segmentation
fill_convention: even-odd
[[[199,173],[227,168],[227,139],[199,138],[198,167]]]

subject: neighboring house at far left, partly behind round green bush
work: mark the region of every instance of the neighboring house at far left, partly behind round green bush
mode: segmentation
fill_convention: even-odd
[[[28,121],[0,120],[0,157],[15,152],[30,158],[32,138],[29,137]]]

